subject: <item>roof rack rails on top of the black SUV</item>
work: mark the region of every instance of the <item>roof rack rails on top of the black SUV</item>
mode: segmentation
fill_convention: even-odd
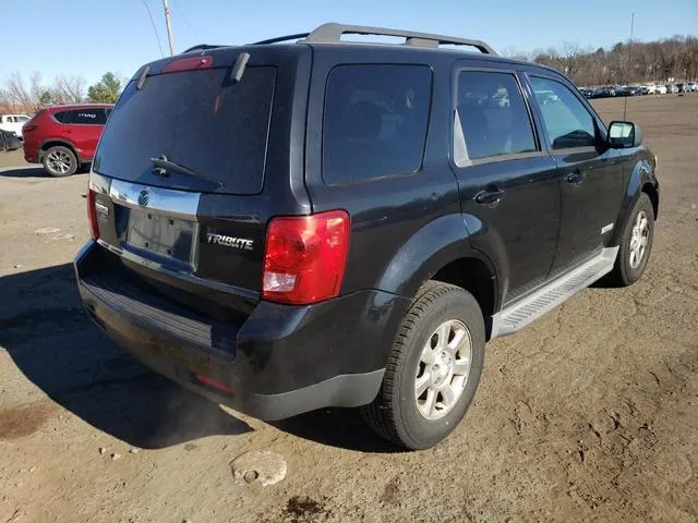
[[[405,45],[412,47],[428,47],[437,48],[440,45],[455,45],[455,46],[469,46],[474,47],[484,54],[495,54],[496,52],[492,47],[482,40],[472,40],[468,38],[456,38],[445,35],[432,35],[429,33],[417,33],[413,31],[389,29],[386,27],[370,27],[363,25],[344,25],[344,24],[323,24],[316,27],[309,35],[292,35],[290,37],[282,37],[280,39],[274,38],[277,41],[284,41],[286,39],[293,39],[303,37],[300,41],[302,44],[340,44],[341,35],[380,35],[380,36],[397,36],[405,38]],[[274,40],[266,40],[261,44],[272,42]]]

